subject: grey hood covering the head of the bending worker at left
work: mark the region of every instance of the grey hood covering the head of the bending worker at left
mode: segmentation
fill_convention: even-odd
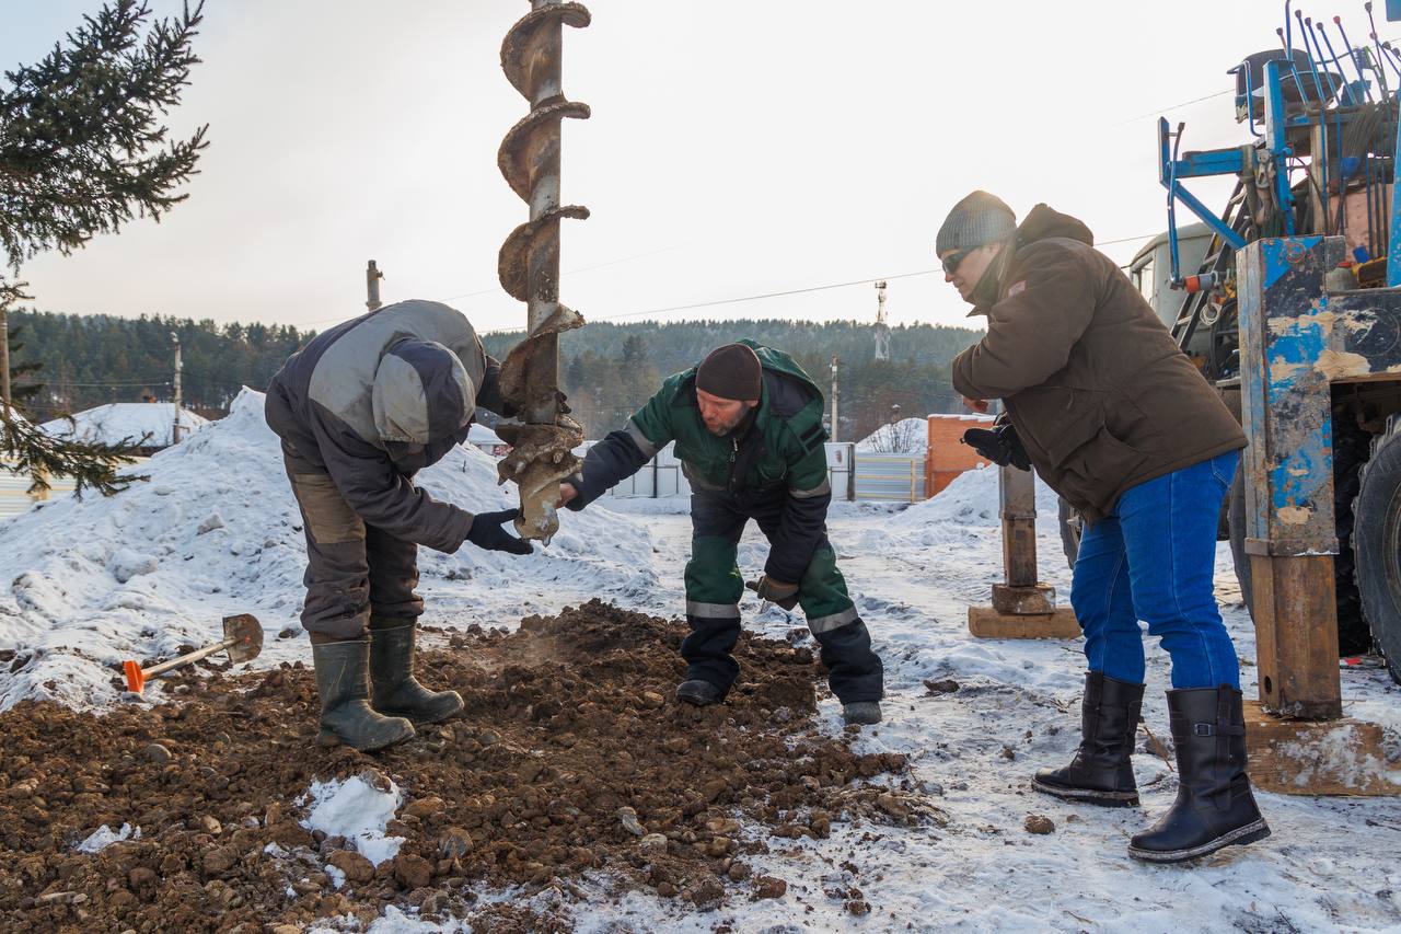
[[[380,440],[429,445],[472,421],[476,386],[453,351],[406,338],[380,358],[371,401]]]

